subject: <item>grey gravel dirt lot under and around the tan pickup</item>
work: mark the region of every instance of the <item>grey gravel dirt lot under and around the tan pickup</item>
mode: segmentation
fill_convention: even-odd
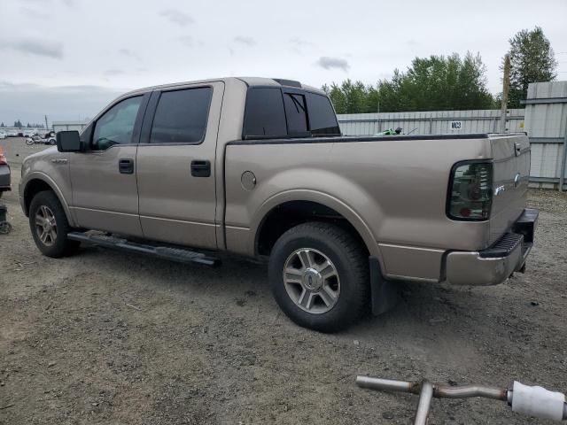
[[[0,141],[12,161],[41,146]],[[19,157],[16,154],[19,153]],[[527,273],[497,287],[405,284],[399,305],[338,335],[293,325],[266,267],[181,266],[97,248],[42,257],[5,197],[0,423],[409,423],[417,399],[357,374],[567,391],[567,197],[540,208]],[[489,400],[435,400],[432,423],[546,423]]]

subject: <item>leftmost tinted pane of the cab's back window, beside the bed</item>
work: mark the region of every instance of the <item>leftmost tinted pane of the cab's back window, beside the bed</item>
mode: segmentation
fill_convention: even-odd
[[[244,134],[248,137],[285,137],[282,90],[249,89],[246,94]]]

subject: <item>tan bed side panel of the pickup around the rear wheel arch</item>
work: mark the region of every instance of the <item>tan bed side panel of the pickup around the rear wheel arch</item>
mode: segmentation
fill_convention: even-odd
[[[487,222],[449,220],[445,205],[451,167],[463,159],[490,158],[488,139],[309,142],[227,146],[229,251],[253,255],[262,218],[287,200],[340,209],[389,275],[439,280],[444,251],[487,246]],[[252,190],[241,184],[245,171],[256,176]],[[416,258],[413,271],[408,255]]]

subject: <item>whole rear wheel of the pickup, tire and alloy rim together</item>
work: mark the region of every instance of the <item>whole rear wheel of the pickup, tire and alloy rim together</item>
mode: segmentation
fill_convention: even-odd
[[[304,328],[336,332],[369,305],[368,254],[349,232],[308,222],[281,236],[269,259],[277,304]]]

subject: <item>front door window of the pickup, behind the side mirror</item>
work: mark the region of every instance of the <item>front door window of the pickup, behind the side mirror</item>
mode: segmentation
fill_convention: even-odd
[[[105,151],[115,144],[132,143],[136,116],[142,97],[130,97],[115,104],[97,120],[91,149]]]

